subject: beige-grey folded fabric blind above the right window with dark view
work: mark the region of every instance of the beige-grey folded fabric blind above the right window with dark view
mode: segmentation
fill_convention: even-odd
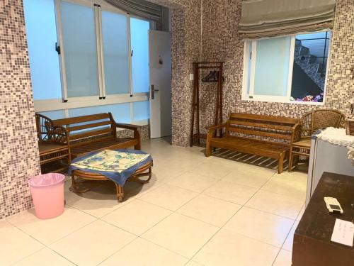
[[[263,38],[333,28],[336,0],[246,0],[239,34]]]

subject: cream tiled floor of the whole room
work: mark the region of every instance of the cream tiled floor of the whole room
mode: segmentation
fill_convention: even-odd
[[[0,265],[291,265],[306,174],[277,174],[202,148],[145,141],[149,184],[110,183],[74,194],[62,216],[24,211],[0,221]]]

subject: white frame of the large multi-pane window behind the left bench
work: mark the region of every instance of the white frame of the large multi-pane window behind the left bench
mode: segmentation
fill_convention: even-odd
[[[45,99],[35,100],[35,111],[57,111],[64,110],[65,117],[69,117],[69,109],[84,108],[90,106],[104,106],[110,104],[130,104],[130,121],[139,126],[149,124],[149,119],[144,121],[134,121],[133,103],[137,101],[149,101],[149,92],[134,93],[132,91],[132,57],[131,57],[131,43],[130,43],[130,18],[138,18],[144,21],[149,21],[139,16],[132,16],[129,13],[122,11],[114,6],[103,1],[96,1],[99,7],[94,5],[92,0],[53,0],[55,5],[55,21],[57,24],[57,43],[60,46],[60,55],[58,56],[60,67],[60,79],[62,83],[62,98],[61,99]],[[89,6],[93,8],[95,13],[95,31],[96,31],[96,50],[98,57],[98,95],[97,96],[78,96],[68,97],[67,95],[67,79],[65,72],[65,57],[64,57],[64,41],[62,38],[62,17],[60,13],[61,1],[70,4],[77,4],[81,6]],[[102,38],[102,18],[101,11],[108,11],[112,13],[123,14],[127,18],[127,56],[129,65],[129,92],[127,94],[106,94],[105,92],[105,76],[104,76],[104,55],[103,55],[103,38]],[[152,21],[149,21],[150,29],[154,28]]]

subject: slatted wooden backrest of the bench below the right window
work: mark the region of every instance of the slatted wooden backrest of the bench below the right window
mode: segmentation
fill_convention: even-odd
[[[226,135],[290,144],[297,125],[299,126],[299,119],[296,118],[230,113]]]

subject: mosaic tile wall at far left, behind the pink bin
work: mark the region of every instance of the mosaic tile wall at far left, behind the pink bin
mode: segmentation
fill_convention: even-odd
[[[30,208],[40,172],[21,0],[0,1],[0,219]]]

